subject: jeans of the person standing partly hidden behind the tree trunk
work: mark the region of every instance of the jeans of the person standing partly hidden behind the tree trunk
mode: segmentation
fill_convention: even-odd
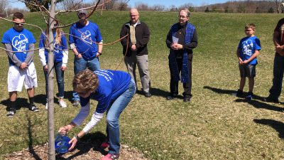
[[[62,62],[54,63],[56,81],[58,82],[58,92],[60,98],[64,97],[64,71],[61,70]],[[45,92],[46,97],[48,96],[48,72],[44,72],[45,75]]]

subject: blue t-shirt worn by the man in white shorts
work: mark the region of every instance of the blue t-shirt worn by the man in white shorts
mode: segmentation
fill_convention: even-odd
[[[26,60],[26,55],[28,52],[28,46],[31,43],[35,43],[35,38],[33,38],[33,33],[28,31],[26,28],[23,28],[22,31],[16,31],[14,28],[10,28],[8,31],[4,33],[2,38],[2,43],[9,43],[12,46],[13,51],[23,51],[23,52],[15,52],[14,54],[21,62]],[[12,60],[9,58],[10,65],[15,65]]]

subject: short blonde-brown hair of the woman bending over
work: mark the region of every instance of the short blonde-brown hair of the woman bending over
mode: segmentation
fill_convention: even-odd
[[[89,90],[92,90],[94,92],[99,86],[99,79],[92,70],[85,69],[75,75],[72,85],[75,91],[89,92]]]

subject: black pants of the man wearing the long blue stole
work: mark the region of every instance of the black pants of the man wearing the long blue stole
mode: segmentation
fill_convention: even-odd
[[[178,64],[178,73],[180,74],[182,70],[182,58],[177,58],[176,60]],[[172,70],[170,70],[170,72],[172,72]],[[192,97],[192,54],[188,55],[188,76],[188,81],[182,84],[184,89],[182,95],[184,97]],[[178,95],[178,81],[175,81],[172,77],[170,78],[170,95]]]

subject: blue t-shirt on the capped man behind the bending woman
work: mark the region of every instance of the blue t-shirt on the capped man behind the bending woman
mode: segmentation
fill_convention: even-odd
[[[69,43],[75,43],[78,53],[82,54],[85,60],[92,60],[97,55],[97,43],[102,41],[102,35],[96,23],[89,21],[87,26],[79,22],[70,27]]]

